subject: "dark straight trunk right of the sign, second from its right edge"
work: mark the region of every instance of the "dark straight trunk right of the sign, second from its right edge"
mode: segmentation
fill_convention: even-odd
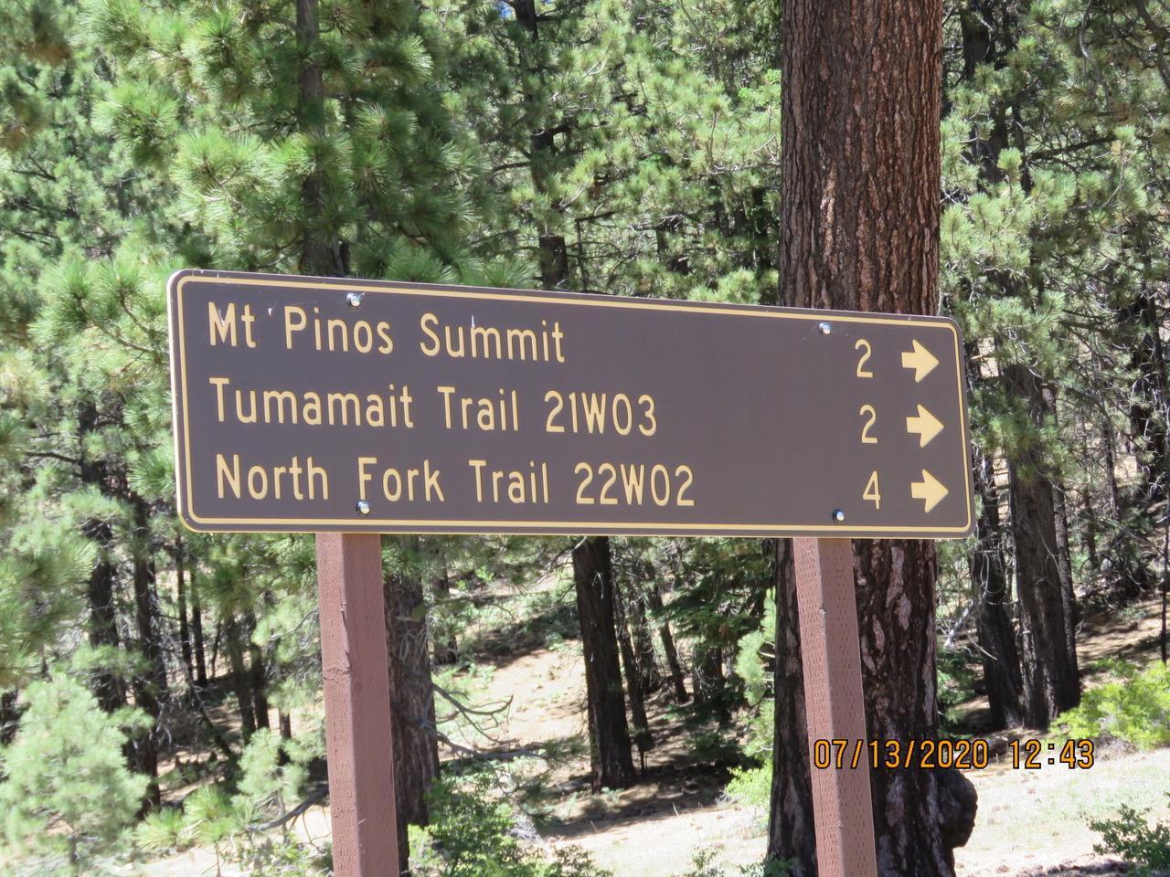
[[[1021,364],[1004,366],[1006,391],[1025,406],[1031,429],[1051,416],[1040,378]],[[1025,723],[1046,728],[1080,702],[1076,655],[1069,649],[1057,538],[1052,470],[1044,449],[1024,442],[1009,456],[1016,589],[1023,628]]]

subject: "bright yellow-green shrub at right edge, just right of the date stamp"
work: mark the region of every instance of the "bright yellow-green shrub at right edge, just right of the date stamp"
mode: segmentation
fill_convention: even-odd
[[[1057,726],[1069,737],[1114,738],[1142,750],[1170,745],[1170,667],[1108,661],[1103,669],[1112,678],[1088,689]]]

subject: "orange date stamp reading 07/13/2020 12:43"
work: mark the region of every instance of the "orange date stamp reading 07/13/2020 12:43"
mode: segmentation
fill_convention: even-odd
[[[1069,769],[1093,767],[1092,740],[1021,739],[1007,744],[1013,769],[1037,771],[1062,765]],[[991,764],[991,744],[983,738],[958,740],[814,740],[812,766],[818,771],[856,769],[982,769]]]

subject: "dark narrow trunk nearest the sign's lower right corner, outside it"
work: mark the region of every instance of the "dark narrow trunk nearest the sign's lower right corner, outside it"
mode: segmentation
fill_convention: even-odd
[[[999,492],[991,458],[976,451],[975,489],[982,509],[971,551],[971,583],[977,602],[975,627],[983,662],[983,679],[997,728],[1024,721],[1020,656],[1011,615],[1011,587],[1000,541]]]

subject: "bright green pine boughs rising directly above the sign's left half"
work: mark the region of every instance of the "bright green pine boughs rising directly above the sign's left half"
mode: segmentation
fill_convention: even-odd
[[[91,4],[124,78],[103,130],[174,186],[197,264],[305,269],[321,240],[332,274],[474,275],[482,168],[434,87],[442,39],[408,0],[323,4],[318,19],[310,33],[287,4]]]

